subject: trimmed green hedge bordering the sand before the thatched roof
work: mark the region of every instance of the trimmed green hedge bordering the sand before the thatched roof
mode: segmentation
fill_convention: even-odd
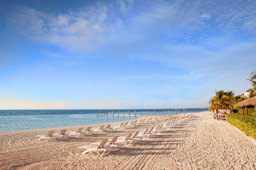
[[[245,135],[256,139],[256,116],[232,113],[226,114],[226,121],[243,131]]]

